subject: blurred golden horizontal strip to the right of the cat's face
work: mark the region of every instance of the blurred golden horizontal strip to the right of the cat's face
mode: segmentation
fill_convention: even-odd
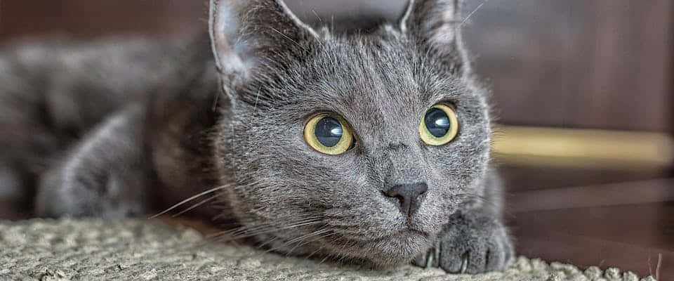
[[[574,168],[669,169],[674,137],[667,133],[497,126],[496,162]]]

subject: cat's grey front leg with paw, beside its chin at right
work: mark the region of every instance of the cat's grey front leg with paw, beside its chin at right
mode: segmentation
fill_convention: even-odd
[[[440,267],[448,273],[484,273],[512,261],[513,242],[501,219],[501,183],[490,178],[486,185],[482,205],[453,214],[435,246],[418,256],[414,265]]]

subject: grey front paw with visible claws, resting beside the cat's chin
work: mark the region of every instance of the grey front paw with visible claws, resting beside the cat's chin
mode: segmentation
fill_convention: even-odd
[[[440,267],[448,273],[484,273],[501,270],[515,255],[505,227],[491,218],[452,219],[435,242],[435,247],[413,263]]]

